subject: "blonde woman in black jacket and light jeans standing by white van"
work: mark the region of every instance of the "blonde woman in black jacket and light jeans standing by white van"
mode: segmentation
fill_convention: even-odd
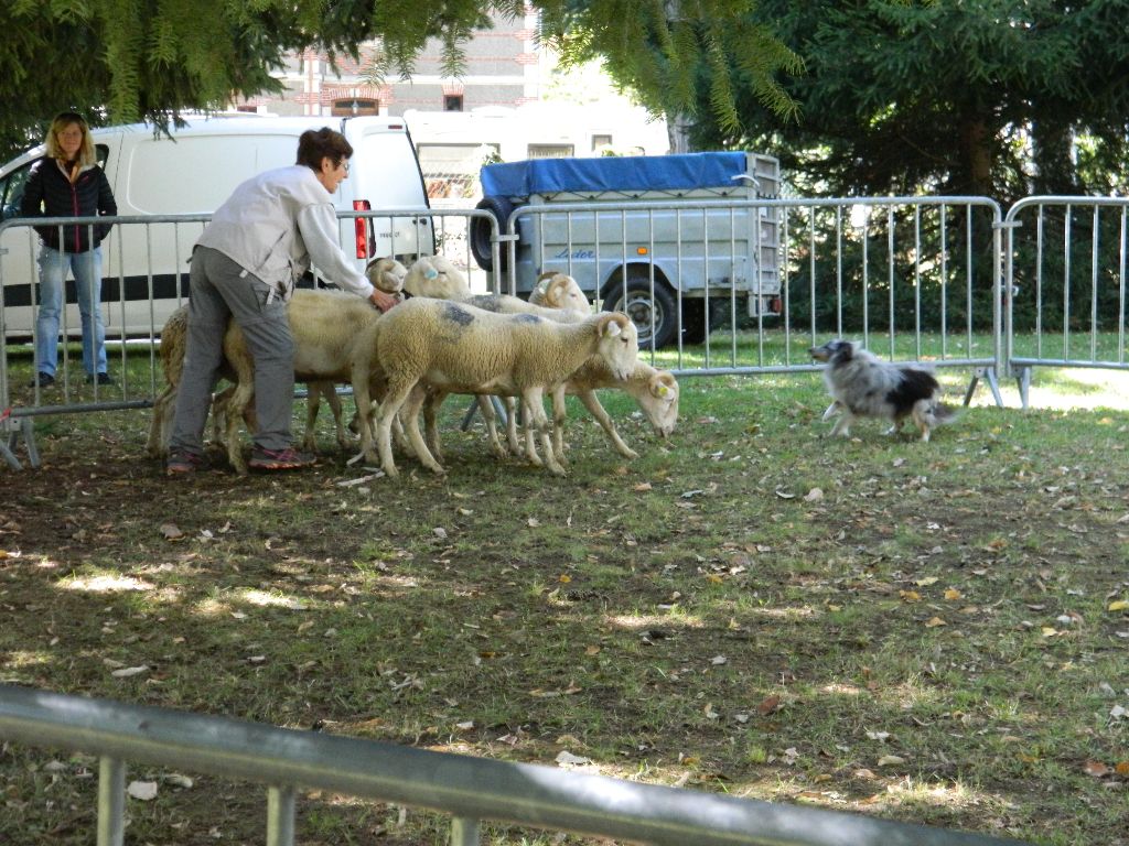
[[[90,127],[81,115],[63,112],[51,122],[47,155],[32,165],[20,217],[80,218],[114,215],[117,204],[106,174],[95,158]],[[111,385],[106,369],[106,328],[102,320],[102,248],[111,223],[36,227],[40,248],[40,312],[35,323],[36,376],[32,387],[55,381],[59,319],[67,273],[75,274],[82,318],[82,369],[86,380]]]

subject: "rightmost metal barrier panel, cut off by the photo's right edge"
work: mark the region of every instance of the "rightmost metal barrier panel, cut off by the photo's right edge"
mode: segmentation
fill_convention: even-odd
[[[1032,196],[1007,212],[1009,372],[1027,407],[1035,367],[1129,369],[1129,197]]]

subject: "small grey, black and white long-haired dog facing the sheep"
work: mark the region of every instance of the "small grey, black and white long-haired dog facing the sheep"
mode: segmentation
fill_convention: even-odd
[[[912,417],[921,440],[928,441],[934,426],[955,417],[952,408],[938,402],[940,385],[927,370],[882,361],[855,341],[829,341],[808,352],[828,364],[823,381],[832,403],[823,421],[842,415],[831,430],[833,435],[849,437],[857,417],[885,417],[892,424],[887,434],[894,434],[905,417]]]

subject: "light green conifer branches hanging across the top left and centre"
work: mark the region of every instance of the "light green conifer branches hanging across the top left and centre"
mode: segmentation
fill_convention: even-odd
[[[733,73],[770,107],[790,102],[772,78],[798,60],[749,19],[752,0],[534,0],[541,37],[566,61],[604,56],[656,113],[693,113],[707,91],[718,124],[739,126]],[[287,51],[358,58],[380,39],[369,78],[406,76],[430,37],[458,76],[462,44],[490,14],[524,16],[522,0],[6,0],[0,5],[0,151],[26,146],[51,116],[75,108],[91,123],[222,108],[277,91]],[[658,50],[653,50],[658,45]],[[708,81],[700,67],[712,72]]]

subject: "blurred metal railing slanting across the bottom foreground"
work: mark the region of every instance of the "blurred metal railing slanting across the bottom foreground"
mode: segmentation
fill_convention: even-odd
[[[480,820],[668,846],[1004,846],[1017,840],[607,776],[0,685],[0,738],[99,756],[98,846],[120,846],[125,761],[268,787],[268,846],[295,843],[296,788],[428,808],[474,846]]]

